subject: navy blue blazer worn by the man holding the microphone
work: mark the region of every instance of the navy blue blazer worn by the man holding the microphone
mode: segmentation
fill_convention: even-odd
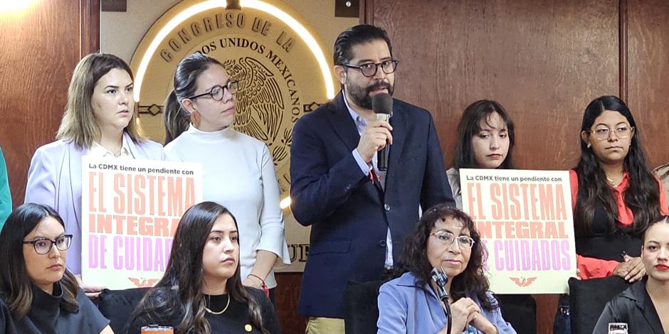
[[[342,92],[293,128],[290,196],[293,215],[311,225],[298,312],[342,318],[348,281],[381,279],[390,227],[393,259],[423,210],[453,203],[431,114],[394,99],[393,145],[385,191],[353,157],[360,136]]]

